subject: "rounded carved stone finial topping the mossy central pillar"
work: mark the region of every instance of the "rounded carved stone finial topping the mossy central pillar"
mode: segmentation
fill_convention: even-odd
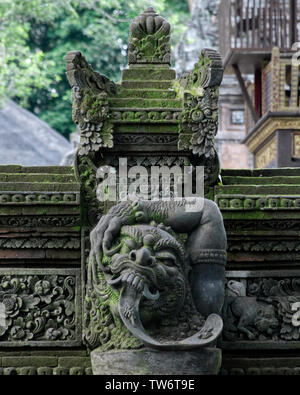
[[[147,8],[131,23],[128,63],[170,64],[170,29],[169,22]]]

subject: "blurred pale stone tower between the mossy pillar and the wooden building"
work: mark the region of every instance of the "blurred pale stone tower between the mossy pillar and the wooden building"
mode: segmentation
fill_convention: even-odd
[[[191,18],[173,51],[179,76],[193,69],[202,48],[217,49],[222,34],[217,23],[220,0],[195,0],[189,4]],[[223,169],[253,168],[253,155],[244,144],[245,100],[234,73],[227,71],[219,90],[219,131],[215,140],[220,164]]]

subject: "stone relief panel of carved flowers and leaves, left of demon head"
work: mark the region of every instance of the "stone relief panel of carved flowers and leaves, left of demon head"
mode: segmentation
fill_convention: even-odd
[[[0,269],[0,347],[80,344],[79,269]]]

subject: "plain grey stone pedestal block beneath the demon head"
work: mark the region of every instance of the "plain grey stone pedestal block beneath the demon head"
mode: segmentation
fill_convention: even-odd
[[[216,375],[222,361],[218,348],[195,351],[150,349],[91,353],[94,375]]]

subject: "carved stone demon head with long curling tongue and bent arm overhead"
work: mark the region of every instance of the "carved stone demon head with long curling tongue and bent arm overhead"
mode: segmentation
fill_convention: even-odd
[[[121,202],[91,232],[84,334],[89,348],[187,350],[220,335],[223,221],[212,201],[203,199],[197,213],[185,207],[185,200]],[[181,233],[188,234],[185,244]]]

